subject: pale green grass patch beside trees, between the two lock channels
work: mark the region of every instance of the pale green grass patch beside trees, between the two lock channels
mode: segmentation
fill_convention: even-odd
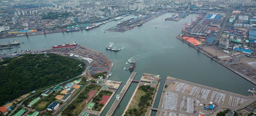
[[[140,97],[144,96],[145,94],[146,94],[146,92],[137,89],[137,91],[136,91],[136,93],[134,95],[134,98],[132,99],[132,102],[131,102],[131,104],[130,104],[128,109],[134,109],[134,108],[137,109],[139,107],[138,104],[140,102]]]

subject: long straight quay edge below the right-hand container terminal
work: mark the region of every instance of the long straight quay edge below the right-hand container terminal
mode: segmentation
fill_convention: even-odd
[[[196,49],[196,50],[199,51],[200,53],[206,55],[206,56],[209,57],[210,59],[216,61],[216,62],[219,63],[220,65],[226,67],[226,68],[229,69],[230,71],[236,73],[236,74],[239,75],[240,77],[246,79],[246,80],[249,81],[250,83],[256,85],[256,81],[255,81],[255,80],[250,79],[250,77],[248,77],[248,76],[244,75],[243,73],[241,73],[240,71],[237,71],[236,69],[234,69],[234,68],[232,68],[232,67],[226,65],[226,64],[223,63],[222,61],[219,61],[219,60],[217,60],[217,59],[214,59],[214,58],[213,58],[211,55],[209,55],[206,51],[204,51],[204,50],[202,50],[202,49],[198,49],[198,48],[196,48],[195,46],[191,45],[190,43],[188,43],[188,42],[186,42],[186,41],[183,41],[182,38],[181,38],[181,36],[178,35],[178,36],[176,36],[176,38],[179,39],[180,41],[182,41],[183,43],[186,43],[186,44],[189,45],[190,47]]]

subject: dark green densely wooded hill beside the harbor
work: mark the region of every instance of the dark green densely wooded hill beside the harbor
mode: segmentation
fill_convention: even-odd
[[[25,54],[5,59],[0,62],[0,105],[32,90],[72,79],[85,68],[81,61],[52,53],[47,57]]]

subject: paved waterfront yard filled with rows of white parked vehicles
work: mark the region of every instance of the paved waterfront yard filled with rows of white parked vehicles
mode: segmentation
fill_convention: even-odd
[[[165,85],[157,116],[210,115],[223,108],[239,110],[256,101],[256,96],[243,96],[173,77],[167,77]]]

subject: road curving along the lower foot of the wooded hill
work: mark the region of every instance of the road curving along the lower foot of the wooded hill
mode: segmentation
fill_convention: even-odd
[[[84,63],[86,63],[86,62],[84,62]],[[84,75],[84,73],[86,73],[86,71],[88,71],[88,69],[89,69],[89,64],[86,63],[86,65],[87,65],[87,67],[86,67],[86,69],[83,71],[83,73],[82,73],[81,75],[78,75],[78,76],[72,78],[72,79],[76,79],[76,78],[81,77],[82,75]],[[67,82],[71,81],[72,79],[69,79],[69,80],[64,81],[64,82],[62,82],[62,83],[59,83],[59,84],[57,84],[57,85],[62,85],[62,84],[64,84],[64,83],[67,83]],[[57,85],[54,85],[54,86],[49,87],[49,88],[46,88],[46,89],[44,89],[44,90],[53,88],[53,87],[55,87],[55,86],[57,86]],[[43,92],[44,90],[42,90],[42,91],[40,91],[40,92]],[[38,94],[38,93],[40,93],[40,92],[37,92],[36,94]],[[8,114],[8,116],[11,116],[12,113],[13,113],[14,111],[16,111],[17,108],[18,108],[19,106],[21,106],[25,100],[27,100],[28,98],[30,98],[30,97],[32,97],[32,96],[35,96],[36,94],[32,94],[32,95],[28,96],[27,98],[24,98],[24,99],[23,99],[19,104],[17,104],[17,106]]]

